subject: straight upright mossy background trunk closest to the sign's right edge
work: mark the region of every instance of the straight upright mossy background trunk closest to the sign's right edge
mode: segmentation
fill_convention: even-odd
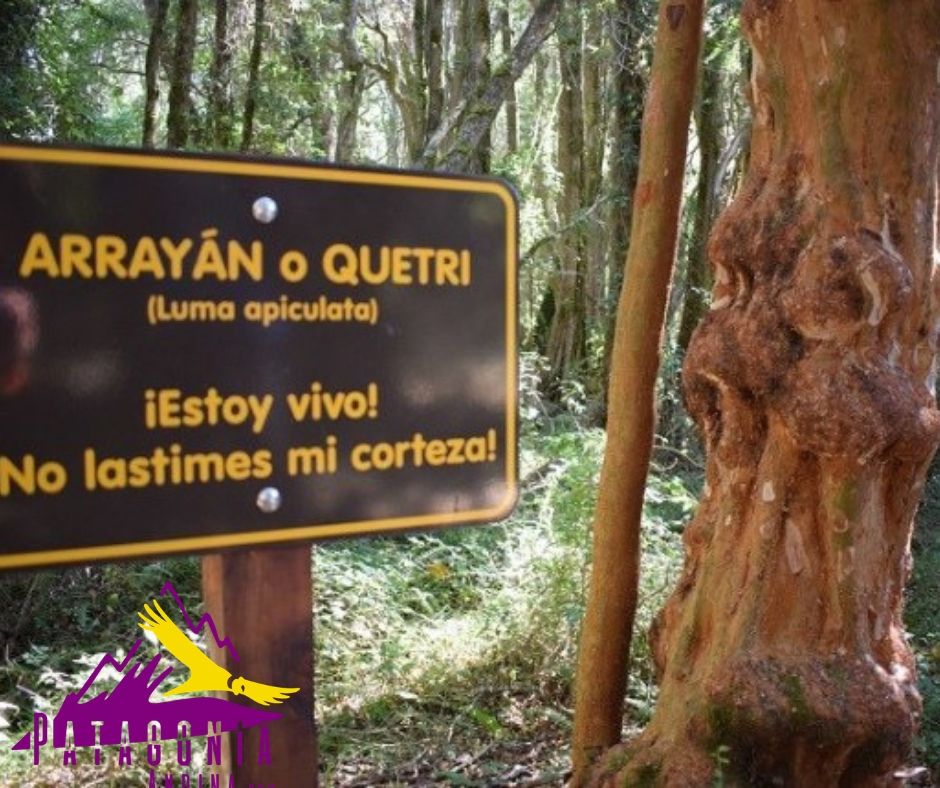
[[[562,177],[558,225],[567,228],[557,242],[558,270],[553,275],[554,314],[548,330],[546,391],[557,396],[559,386],[576,375],[584,360],[586,234],[578,221],[584,195],[584,104],[581,92],[581,8],[568,5],[558,22],[558,172]]]

